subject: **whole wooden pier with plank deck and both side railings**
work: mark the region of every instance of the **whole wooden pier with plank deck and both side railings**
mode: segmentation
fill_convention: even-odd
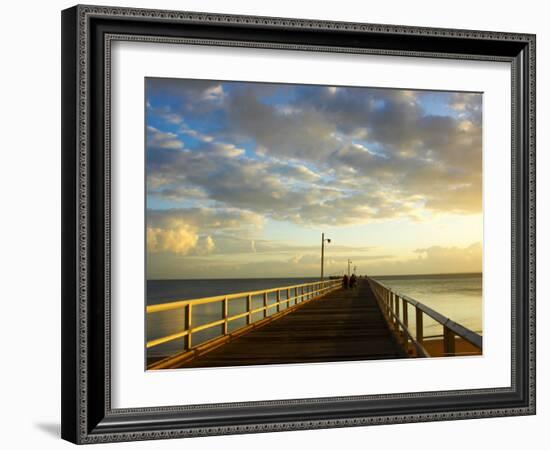
[[[269,294],[276,294],[276,300],[270,302]],[[252,299],[258,296],[264,299],[263,306],[253,309]],[[247,310],[230,316],[229,302],[243,297]],[[222,305],[220,320],[193,327],[193,306],[213,302]],[[151,340],[147,347],[185,338],[185,348],[151,361],[148,369],[481,354],[481,336],[371,278],[360,278],[349,289],[342,288],[341,280],[329,280],[155,305],[147,313],[172,309],[185,312],[186,329]],[[409,310],[411,315],[414,310],[415,324],[419,324],[414,333]],[[263,317],[254,321],[258,313]],[[424,315],[441,324],[441,336],[424,338]],[[230,332],[229,323],[243,317],[246,325]],[[193,333],[212,327],[221,327],[221,335],[194,346]]]

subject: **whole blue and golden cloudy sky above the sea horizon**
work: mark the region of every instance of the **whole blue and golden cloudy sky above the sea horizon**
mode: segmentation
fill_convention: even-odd
[[[481,271],[481,102],[148,78],[148,278]]]

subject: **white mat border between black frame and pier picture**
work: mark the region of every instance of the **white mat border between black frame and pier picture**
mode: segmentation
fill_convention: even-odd
[[[483,92],[483,356],[146,372],[144,77]],[[509,386],[510,121],[507,63],[115,42],[113,408]]]

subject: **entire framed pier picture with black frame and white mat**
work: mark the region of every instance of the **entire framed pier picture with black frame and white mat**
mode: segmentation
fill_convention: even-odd
[[[62,12],[62,436],[535,413],[535,36]]]

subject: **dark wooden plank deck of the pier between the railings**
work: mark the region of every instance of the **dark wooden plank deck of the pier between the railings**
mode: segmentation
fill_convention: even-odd
[[[364,280],[175,367],[405,358]],[[174,367],[174,368],[175,368]]]

